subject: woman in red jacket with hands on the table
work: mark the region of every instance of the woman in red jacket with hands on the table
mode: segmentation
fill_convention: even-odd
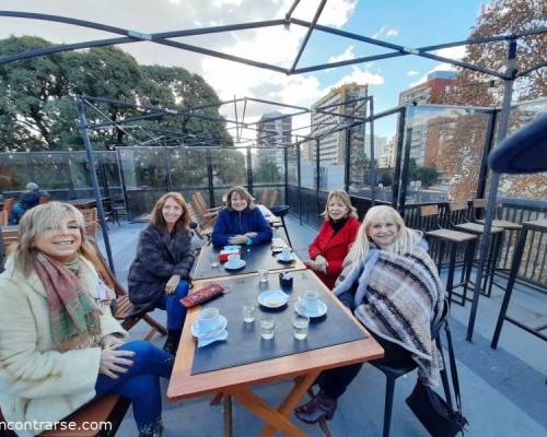
[[[311,261],[307,267],[333,290],[360,224],[349,194],[344,190],[328,193],[325,212],[322,215],[325,216],[325,221],[310,245]]]

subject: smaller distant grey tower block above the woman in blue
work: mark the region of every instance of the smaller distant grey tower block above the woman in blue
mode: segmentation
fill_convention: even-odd
[[[258,154],[258,161],[274,157],[277,165],[284,166],[283,147],[291,145],[292,117],[283,117],[283,115],[277,110],[266,113],[258,121],[256,131],[257,146],[278,149],[272,151],[272,154]]]

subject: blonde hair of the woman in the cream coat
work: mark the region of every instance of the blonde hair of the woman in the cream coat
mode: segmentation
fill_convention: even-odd
[[[19,222],[18,243],[12,250],[14,269],[28,276],[36,265],[39,250],[35,246],[36,237],[49,229],[60,227],[65,215],[70,214],[80,229],[82,244],[80,252],[96,265],[97,256],[85,234],[85,221],[74,206],[62,202],[44,203],[25,212]]]

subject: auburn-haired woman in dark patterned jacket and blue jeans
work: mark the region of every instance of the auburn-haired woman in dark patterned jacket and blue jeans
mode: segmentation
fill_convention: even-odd
[[[163,349],[174,354],[186,318],[181,299],[188,294],[194,265],[190,215],[178,192],[167,192],[150,214],[148,226],[139,235],[137,255],[129,268],[129,299],[135,312],[155,308],[167,311],[167,339]]]

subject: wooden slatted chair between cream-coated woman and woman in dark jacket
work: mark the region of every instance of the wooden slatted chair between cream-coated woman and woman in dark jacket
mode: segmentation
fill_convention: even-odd
[[[129,300],[129,296],[121,284],[118,282],[112,270],[108,268],[106,260],[103,255],[98,250],[96,243],[93,239],[90,239],[90,243],[94,246],[97,253],[97,262],[96,265],[97,272],[103,277],[103,281],[116,293],[116,309],[114,311],[114,317],[121,322],[121,327],[126,331],[130,330],[135,327],[139,321],[146,321],[150,327],[150,331],[144,335],[144,340],[151,340],[156,332],[162,335],[167,335],[167,330],[161,323],[155,321],[155,319],[150,316],[148,312],[133,315],[133,304]]]

